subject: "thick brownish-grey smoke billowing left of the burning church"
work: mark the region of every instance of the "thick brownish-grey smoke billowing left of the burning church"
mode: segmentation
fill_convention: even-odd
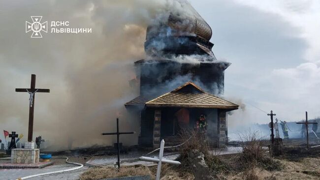
[[[0,1],[0,129],[27,137],[27,93],[31,74],[36,87],[50,93],[35,95],[34,133],[52,149],[111,144],[101,132],[139,131],[139,122],[126,115],[123,104],[135,97],[133,61],[144,58],[148,25],[168,14],[184,12],[183,0]],[[70,27],[92,28],[87,34],[43,33],[30,38],[25,21],[69,21]],[[49,28],[50,31],[50,28]],[[122,141],[136,144],[138,134]],[[130,138],[132,137],[132,138]]]

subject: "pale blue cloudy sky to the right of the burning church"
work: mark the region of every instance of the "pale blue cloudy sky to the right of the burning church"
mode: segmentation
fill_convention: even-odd
[[[191,0],[213,30],[218,59],[232,63],[224,92],[247,104],[240,117],[267,122],[320,116],[320,1]],[[249,105],[251,104],[251,105]],[[236,116],[237,114],[238,117]],[[242,122],[240,122],[242,123]]]

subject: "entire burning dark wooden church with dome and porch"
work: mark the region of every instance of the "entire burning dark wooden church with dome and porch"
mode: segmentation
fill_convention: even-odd
[[[135,62],[140,95],[125,104],[140,119],[139,145],[159,147],[161,139],[175,144],[179,130],[194,128],[205,117],[207,135],[214,145],[227,142],[228,111],[238,105],[224,93],[224,70],[211,51],[210,26],[192,8],[192,14],[170,13],[164,22],[148,27],[147,59]]]

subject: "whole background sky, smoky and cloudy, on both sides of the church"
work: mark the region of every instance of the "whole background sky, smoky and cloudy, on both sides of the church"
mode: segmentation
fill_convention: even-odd
[[[210,25],[218,60],[225,71],[223,97],[241,105],[228,117],[229,131],[280,120],[320,117],[320,2],[317,0],[190,0]],[[123,130],[139,130],[123,104],[136,95],[128,87],[132,63],[144,58],[148,24],[172,0],[0,0],[0,130],[27,136],[28,94],[15,88],[51,89],[36,94],[34,136],[63,146],[110,143],[96,136],[112,131],[122,116]],[[92,28],[88,34],[25,33],[25,21],[41,15],[50,22]],[[119,110],[119,107],[120,110]],[[69,134],[72,134],[70,137]],[[88,138],[86,138],[88,137]],[[0,135],[0,139],[3,139]],[[71,145],[70,145],[71,146]]]

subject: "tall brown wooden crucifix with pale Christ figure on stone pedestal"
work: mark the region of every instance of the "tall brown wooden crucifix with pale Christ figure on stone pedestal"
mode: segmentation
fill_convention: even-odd
[[[29,105],[30,106],[29,106],[28,142],[32,142],[35,92],[50,92],[50,90],[49,89],[36,89],[35,88],[35,74],[32,74],[30,89],[17,88],[16,92],[28,92],[30,94],[30,97],[29,97]]]

